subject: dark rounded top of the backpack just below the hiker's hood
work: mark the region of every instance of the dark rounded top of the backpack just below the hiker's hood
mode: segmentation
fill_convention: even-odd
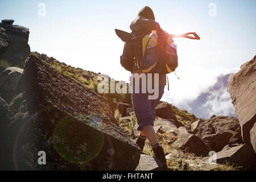
[[[159,30],[160,25],[158,22],[152,19],[146,19],[143,16],[137,16],[133,22],[131,22],[130,29],[132,31],[148,31]]]

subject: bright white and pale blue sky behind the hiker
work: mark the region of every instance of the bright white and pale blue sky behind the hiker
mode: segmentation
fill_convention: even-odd
[[[46,5],[46,16],[39,16]],[[216,16],[210,16],[216,5]],[[179,56],[171,91],[163,100],[179,104],[196,98],[216,76],[239,69],[256,54],[256,1],[11,1],[1,0],[0,18],[30,29],[31,51],[46,53],[73,67],[129,80],[119,64],[123,42],[114,28],[130,31],[131,21],[150,6],[163,30],[197,32],[201,40],[175,39]],[[42,12],[42,11],[40,11]]]

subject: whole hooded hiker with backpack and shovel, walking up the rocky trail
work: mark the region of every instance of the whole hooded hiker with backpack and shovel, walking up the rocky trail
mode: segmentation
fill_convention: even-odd
[[[137,17],[131,22],[130,29],[131,33],[117,29],[115,29],[115,33],[125,42],[120,63],[132,75],[133,92],[131,97],[137,117],[137,130],[141,131],[136,143],[143,151],[147,138],[154,151],[154,156],[162,162],[163,168],[166,169],[164,150],[157,140],[153,126],[155,107],[162,98],[166,86],[166,74],[174,72],[178,65],[177,46],[172,38],[199,40],[200,37],[195,32],[179,35],[168,34],[160,28],[159,23],[155,21],[153,11],[148,6],[139,11]],[[195,37],[189,36],[191,34]],[[139,81],[137,79],[139,84],[134,81],[136,77],[139,78]],[[143,82],[146,83],[146,86]],[[149,90],[144,92],[145,88],[149,88]]]

